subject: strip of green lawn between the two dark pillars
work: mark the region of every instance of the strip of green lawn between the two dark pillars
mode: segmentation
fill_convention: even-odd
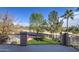
[[[42,44],[52,44],[52,45],[58,45],[58,44],[61,44],[61,42],[59,41],[59,40],[57,40],[57,39],[53,39],[53,40],[51,40],[51,39],[43,39],[43,41],[37,41],[37,40],[30,40],[30,41],[28,41],[28,44],[40,44],[40,45],[42,45]]]

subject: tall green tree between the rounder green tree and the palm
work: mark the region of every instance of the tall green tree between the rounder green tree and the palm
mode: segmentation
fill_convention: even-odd
[[[48,15],[48,24],[49,24],[49,30],[52,35],[52,39],[54,38],[54,32],[57,23],[58,23],[58,13],[56,11],[51,11]]]

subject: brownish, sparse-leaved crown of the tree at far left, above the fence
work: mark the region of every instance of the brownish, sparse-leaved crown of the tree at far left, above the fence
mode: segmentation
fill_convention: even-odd
[[[1,22],[2,34],[6,35],[10,34],[14,28],[12,17],[8,13],[5,13],[1,15],[0,19],[2,20]]]

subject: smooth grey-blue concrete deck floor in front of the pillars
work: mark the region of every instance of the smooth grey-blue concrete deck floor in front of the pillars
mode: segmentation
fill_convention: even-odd
[[[62,45],[0,45],[0,52],[78,52],[72,47]]]

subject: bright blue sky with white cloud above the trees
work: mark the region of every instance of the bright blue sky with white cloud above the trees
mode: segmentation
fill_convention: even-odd
[[[8,11],[8,13],[13,16],[15,24],[20,23],[26,26],[29,24],[30,15],[34,12],[40,12],[44,15],[45,19],[48,19],[48,14],[52,10],[56,10],[59,16],[61,16],[67,9],[73,9],[74,13],[77,13],[74,7],[0,7],[0,13],[6,13],[6,11]],[[72,21],[70,22],[73,24]],[[78,20],[75,21],[75,24],[76,22],[78,22]],[[66,21],[64,21],[64,26],[66,26]]]

